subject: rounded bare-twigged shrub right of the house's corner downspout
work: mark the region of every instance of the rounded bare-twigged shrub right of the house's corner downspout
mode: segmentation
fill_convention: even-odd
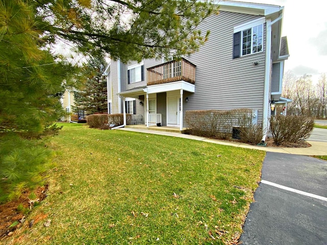
[[[270,131],[276,144],[296,143],[308,138],[313,130],[314,120],[298,115],[276,115],[269,119]]]

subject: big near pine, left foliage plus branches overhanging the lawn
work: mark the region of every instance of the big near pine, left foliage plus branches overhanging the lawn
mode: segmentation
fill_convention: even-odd
[[[44,147],[18,136],[42,133],[63,113],[60,95],[75,70],[50,51],[58,40],[123,62],[178,57],[207,40],[197,28],[214,9],[197,0],[0,1],[0,201],[3,192],[34,186],[49,160]]]

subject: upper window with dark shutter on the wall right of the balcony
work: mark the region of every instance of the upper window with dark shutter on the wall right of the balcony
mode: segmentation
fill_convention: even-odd
[[[264,22],[263,17],[234,28],[233,59],[263,51]]]

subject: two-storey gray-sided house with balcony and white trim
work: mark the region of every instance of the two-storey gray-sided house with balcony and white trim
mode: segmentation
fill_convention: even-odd
[[[133,114],[134,124],[185,127],[187,110],[249,108],[268,125],[271,103],[282,103],[284,8],[219,2],[219,15],[200,26],[210,30],[200,50],[179,60],[109,63],[105,70],[108,113]]]

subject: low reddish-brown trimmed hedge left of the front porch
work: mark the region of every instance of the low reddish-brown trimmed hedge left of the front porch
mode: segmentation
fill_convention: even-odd
[[[131,121],[132,115],[126,114],[127,124]],[[110,124],[120,126],[124,124],[124,114],[92,114],[86,116],[86,123],[90,128],[109,129]]]

